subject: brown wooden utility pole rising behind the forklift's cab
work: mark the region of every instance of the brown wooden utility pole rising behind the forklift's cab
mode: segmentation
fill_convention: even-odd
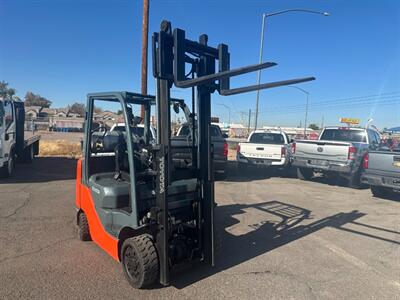
[[[149,1],[143,0],[143,21],[142,21],[142,82],[141,93],[147,95],[147,62],[149,43]],[[140,108],[140,117],[144,122],[144,105]]]

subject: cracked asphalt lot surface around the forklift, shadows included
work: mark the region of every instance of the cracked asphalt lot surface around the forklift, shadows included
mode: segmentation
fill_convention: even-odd
[[[216,183],[222,255],[171,286],[132,289],[76,239],[75,161],[38,158],[0,183],[0,299],[395,299],[400,202],[264,171]],[[397,295],[397,296],[396,296]]]

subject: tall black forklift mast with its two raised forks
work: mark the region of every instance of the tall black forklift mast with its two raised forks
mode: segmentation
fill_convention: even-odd
[[[169,244],[168,244],[168,186],[173,180],[171,157],[171,117],[170,94],[173,85],[177,88],[195,89],[197,98],[197,119],[193,115],[193,130],[197,130],[195,176],[200,185],[199,220],[201,227],[201,245],[203,259],[214,265],[214,175],[213,149],[211,145],[211,94],[217,91],[222,96],[285,86],[314,80],[305,77],[277,82],[263,83],[239,88],[230,88],[230,77],[273,67],[276,63],[265,62],[237,69],[230,69],[228,46],[219,44],[216,48],[208,45],[208,36],[203,34],[198,41],[186,39],[185,31],[175,28],[171,23],[162,21],[159,32],[152,36],[153,75],[157,79],[156,116],[157,144],[156,158],[158,169],[156,204],[160,210],[157,248],[160,262],[160,282],[169,283]],[[186,74],[187,66],[190,72]],[[193,93],[194,95],[194,93]],[[194,101],[193,101],[194,106]],[[194,114],[194,111],[192,111]],[[195,124],[196,123],[196,124]]]

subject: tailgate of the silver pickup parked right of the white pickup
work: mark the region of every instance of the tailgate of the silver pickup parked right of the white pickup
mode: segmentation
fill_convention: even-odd
[[[296,141],[295,156],[345,162],[350,146],[348,142]]]

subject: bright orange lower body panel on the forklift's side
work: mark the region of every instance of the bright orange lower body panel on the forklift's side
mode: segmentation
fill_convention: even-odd
[[[118,239],[110,235],[101,224],[94,206],[90,189],[82,184],[82,159],[78,160],[76,170],[76,207],[82,209],[89,222],[90,235],[92,240],[104,251],[111,255],[115,260],[118,257]]]

